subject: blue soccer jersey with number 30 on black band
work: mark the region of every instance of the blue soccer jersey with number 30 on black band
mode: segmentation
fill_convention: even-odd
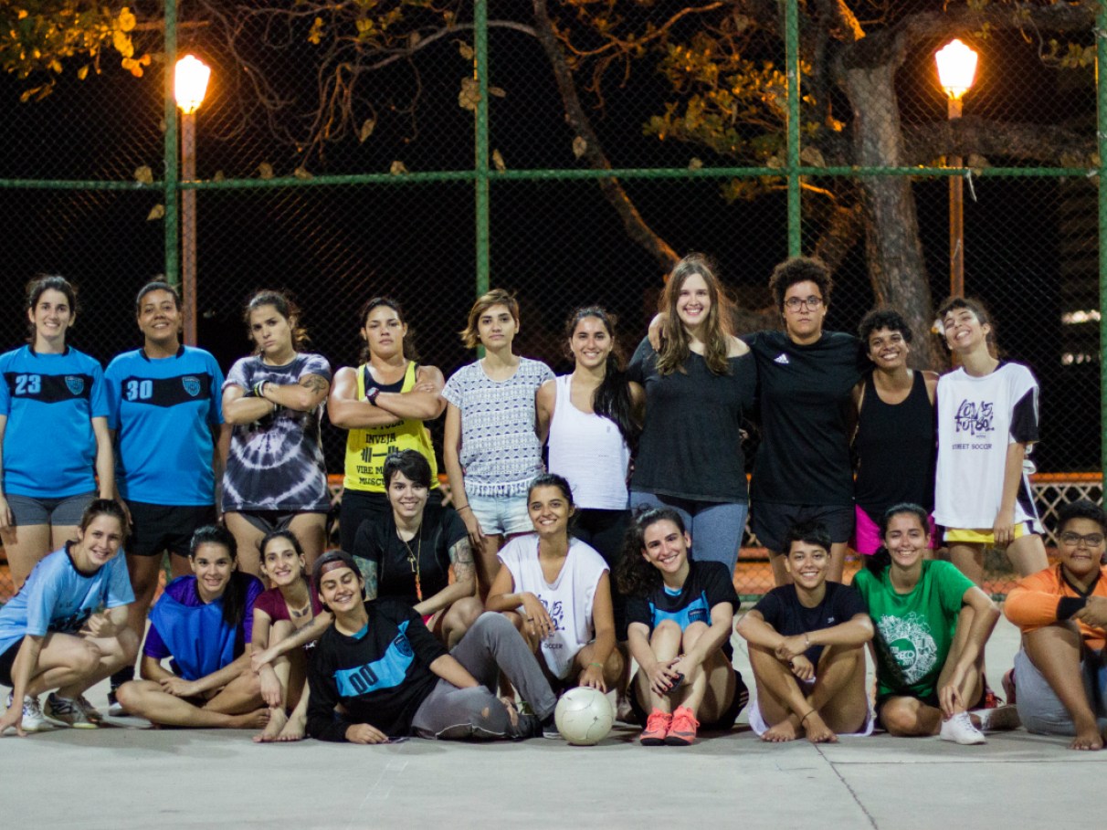
[[[104,373],[123,498],[151,505],[214,504],[213,429],[223,424],[223,372],[203,349],[151,360],[124,352]]]

